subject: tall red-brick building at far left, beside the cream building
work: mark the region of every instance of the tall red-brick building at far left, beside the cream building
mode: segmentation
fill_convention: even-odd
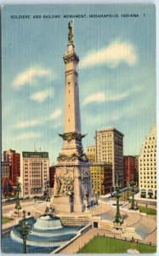
[[[20,177],[20,154],[12,149],[5,150],[3,151],[3,160],[9,162],[9,179],[15,184],[17,177]]]

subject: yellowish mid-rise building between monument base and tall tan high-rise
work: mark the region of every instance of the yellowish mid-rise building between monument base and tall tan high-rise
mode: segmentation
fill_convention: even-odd
[[[112,166],[101,162],[93,162],[89,167],[94,195],[106,195],[112,189]]]

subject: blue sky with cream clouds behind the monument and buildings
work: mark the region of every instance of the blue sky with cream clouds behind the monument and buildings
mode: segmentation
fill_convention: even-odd
[[[63,132],[68,22],[75,18],[83,146],[95,130],[114,126],[124,134],[124,154],[139,154],[156,121],[155,7],[152,5],[4,6],[3,150],[60,153]],[[123,18],[122,14],[138,14]],[[11,19],[11,15],[31,15]],[[61,15],[34,19],[33,15]]]

